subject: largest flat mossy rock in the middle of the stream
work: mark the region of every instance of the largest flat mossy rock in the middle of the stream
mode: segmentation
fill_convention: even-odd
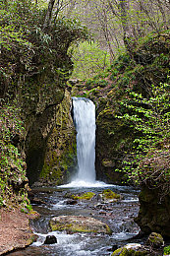
[[[68,233],[74,232],[94,232],[111,234],[111,229],[94,218],[83,216],[59,216],[50,221],[52,230],[66,230]]]

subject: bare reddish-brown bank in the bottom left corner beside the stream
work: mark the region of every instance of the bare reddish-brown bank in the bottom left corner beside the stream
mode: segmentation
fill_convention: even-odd
[[[37,216],[37,213],[28,215],[14,208],[0,209],[0,255],[25,248],[35,240],[29,220]]]

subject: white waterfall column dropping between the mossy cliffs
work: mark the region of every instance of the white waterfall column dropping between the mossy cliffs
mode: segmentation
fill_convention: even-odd
[[[73,97],[77,130],[78,173],[75,180],[95,181],[95,105],[84,97]]]

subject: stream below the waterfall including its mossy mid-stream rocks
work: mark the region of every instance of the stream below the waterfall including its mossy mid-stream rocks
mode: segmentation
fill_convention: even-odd
[[[103,191],[116,196],[111,198]],[[38,238],[25,250],[9,255],[111,255],[117,247],[137,241],[133,237],[140,231],[134,222],[138,194],[132,187],[114,185],[33,188],[30,199],[40,218],[31,221],[31,226]],[[46,244],[47,236],[56,237],[53,244]]]

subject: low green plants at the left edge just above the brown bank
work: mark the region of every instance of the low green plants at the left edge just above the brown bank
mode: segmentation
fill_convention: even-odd
[[[20,109],[16,105],[4,104],[0,109],[0,206],[8,205],[9,200],[25,205],[26,162],[17,147],[24,137],[24,123],[19,118]]]

